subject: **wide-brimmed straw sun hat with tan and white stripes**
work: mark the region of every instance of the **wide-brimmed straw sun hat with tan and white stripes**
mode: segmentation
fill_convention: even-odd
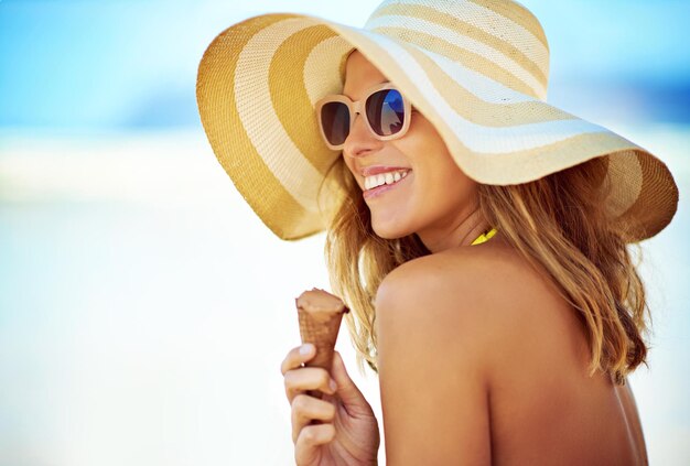
[[[204,53],[196,98],[208,141],[278,237],[322,231],[342,195],[325,176],[341,154],[322,140],[314,106],[342,91],[354,48],[434,124],[475,181],[525,183],[606,155],[608,212],[633,240],[656,235],[676,213],[678,188],[662,162],[546,102],[549,47],[525,7],[389,0],[363,29],[304,14],[251,18]]]

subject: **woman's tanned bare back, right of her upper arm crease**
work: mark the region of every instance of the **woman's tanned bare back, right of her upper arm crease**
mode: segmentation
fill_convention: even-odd
[[[590,350],[575,311],[507,245],[489,241],[482,252],[493,261],[498,257],[511,279],[492,286],[521,293],[530,303],[494,310],[511,336],[487,360],[492,463],[647,464],[629,384],[616,386],[600,371],[589,376]],[[484,279],[478,278],[490,283]]]

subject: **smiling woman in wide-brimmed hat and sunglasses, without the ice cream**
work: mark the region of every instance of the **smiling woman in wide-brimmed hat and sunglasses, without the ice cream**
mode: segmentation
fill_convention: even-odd
[[[670,221],[677,188],[547,105],[547,75],[538,21],[494,0],[387,1],[364,30],[258,17],[200,65],[204,128],[257,214],[284,239],[327,226],[391,465],[647,460],[626,245]],[[297,464],[376,464],[369,403],[339,354],[331,372],[313,357],[281,365]]]

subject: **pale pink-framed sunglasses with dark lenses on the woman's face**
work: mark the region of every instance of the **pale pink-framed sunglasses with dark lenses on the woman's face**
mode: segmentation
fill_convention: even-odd
[[[330,149],[343,149],[357,113],[364,116],[367,128],[376,139],[390,141],[405,136],[410,127],[412,109],[409,100],[390,83],[374,86],[357,101],[342,95],[326,96],[316,102],[316,119]]]

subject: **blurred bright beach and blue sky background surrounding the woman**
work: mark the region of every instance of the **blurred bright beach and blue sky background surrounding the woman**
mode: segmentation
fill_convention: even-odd
[[[688,465],[690,3],[524,3],[549,37],[549,101],[679,185],[675,220],[642,243],[654,333],[630,383],[651,464]],[[324,238],[280,241],[244,203],[201,127],[196,67],[245,18],[363,25],[377,4],[0,0],[0,465],[293,464],[280,364],[294,297],[330,289]],[[345,326],[337,349],[380,424]]]

